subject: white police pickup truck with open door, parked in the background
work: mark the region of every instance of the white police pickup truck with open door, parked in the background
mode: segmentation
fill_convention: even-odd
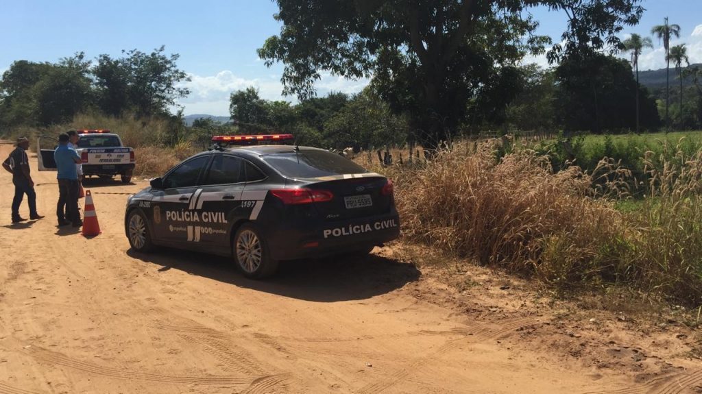
[[[78,130],[81,136],[76,151],[83,162],[83,176],[98,176],[112,178],[120,175],[122,183],[131,181],[134,171],[134,150],[124,147],[119,135],[110,130]],[[56,162],[53,151],[58,140],[51,137],[39,137],[39,171],[55,171]],[[51,147],[48,149],[46,147]]]

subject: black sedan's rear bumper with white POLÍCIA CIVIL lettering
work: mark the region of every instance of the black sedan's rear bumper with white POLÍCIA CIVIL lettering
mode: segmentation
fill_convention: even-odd
[[[371,218],[317,224],[303,231],[299,226],[281,225],[267,236],[271,257],[324,257],[383,245],[399,237],[399,215],[393,211]]]

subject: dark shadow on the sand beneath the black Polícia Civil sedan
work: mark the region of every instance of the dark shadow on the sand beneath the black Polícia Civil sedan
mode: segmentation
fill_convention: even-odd
[[[282,261],[278,273],[263,280],[245,278],[226,257],[166,248],[150,254],[128,250],[127,254],[161,266],[160,272],[178,269],[237,287],[317,302],[369,299],[397,290],[420,276],[412,264],[376,254]]]

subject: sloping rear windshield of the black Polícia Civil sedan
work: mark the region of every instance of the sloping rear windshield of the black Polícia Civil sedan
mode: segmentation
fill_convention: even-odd
[[[269,154],[263,160],[289,178],[317,178],[361,174],[365,168],[329,151],[299,151]]]

